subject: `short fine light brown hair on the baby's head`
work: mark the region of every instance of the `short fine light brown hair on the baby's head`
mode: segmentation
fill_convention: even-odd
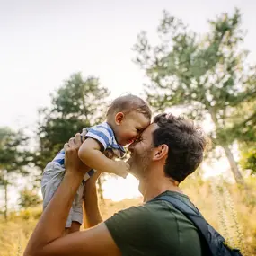
[[[137,111],[143,114],[147,119],[151,119],[152,112],[148,104],[133,94],[119,96],[111,102],[109,110],[107,111],[107,118],[118,112],[129,113],[132,111]]]

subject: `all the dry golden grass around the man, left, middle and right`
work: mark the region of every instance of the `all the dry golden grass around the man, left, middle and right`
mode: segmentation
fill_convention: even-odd
[[[256,255],[256,179],[250,178],[247,183],[248,190],[239,190],[225,181],[201,181],[191,176],[182,189],[229,244],[241,247],[244,255],[251,256]],[[141,199],[106,200],[101,205],[102,216],[106,219],[120,209],[141,202]],[[22,255],[39,216],[40,207],[37,207],[12,214],[7,223],[0,221],[1,256]]]

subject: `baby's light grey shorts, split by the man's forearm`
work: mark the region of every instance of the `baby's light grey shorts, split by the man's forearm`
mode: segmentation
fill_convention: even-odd
[[[50,162],[44,169],[41,180],[41,191],[43,196],[43,209],[55,194],[60,182],[63,180],[65,168],[56,162]],[[70,227],[73,221],[83,223],[83,192],[84,185],[81,183],[75,194],[72,207],[69,211],[66,227]]]

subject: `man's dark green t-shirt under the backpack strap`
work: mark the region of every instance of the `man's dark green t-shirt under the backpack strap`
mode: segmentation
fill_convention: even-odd
[[[163,194],[180,197],[193,207],[185,195],[172,191]],[[105,224],[122,255],[203,255],[197,228],[179,210],[163,200],[151,200],[143,206],[119,211]]]

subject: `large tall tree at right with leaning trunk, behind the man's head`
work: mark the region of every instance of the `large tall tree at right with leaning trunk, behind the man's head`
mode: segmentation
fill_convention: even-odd
[[[146,95],[155,110],[182,106],[193,119],[210,116],[214,145],[224,149],[235,181],[243,184],[231,150],[234,137],[225,130],[233,127],[240,104],[255,97],[255,66],[245,62],[248,52],[240,47],[243,31],[238,10],[231,16],[220,15],[209,25],[210,32],[200,37],[164,11],[159,45],[152,47],[146,32],[141,32],[135,44],[136,63],[150,80]]]

